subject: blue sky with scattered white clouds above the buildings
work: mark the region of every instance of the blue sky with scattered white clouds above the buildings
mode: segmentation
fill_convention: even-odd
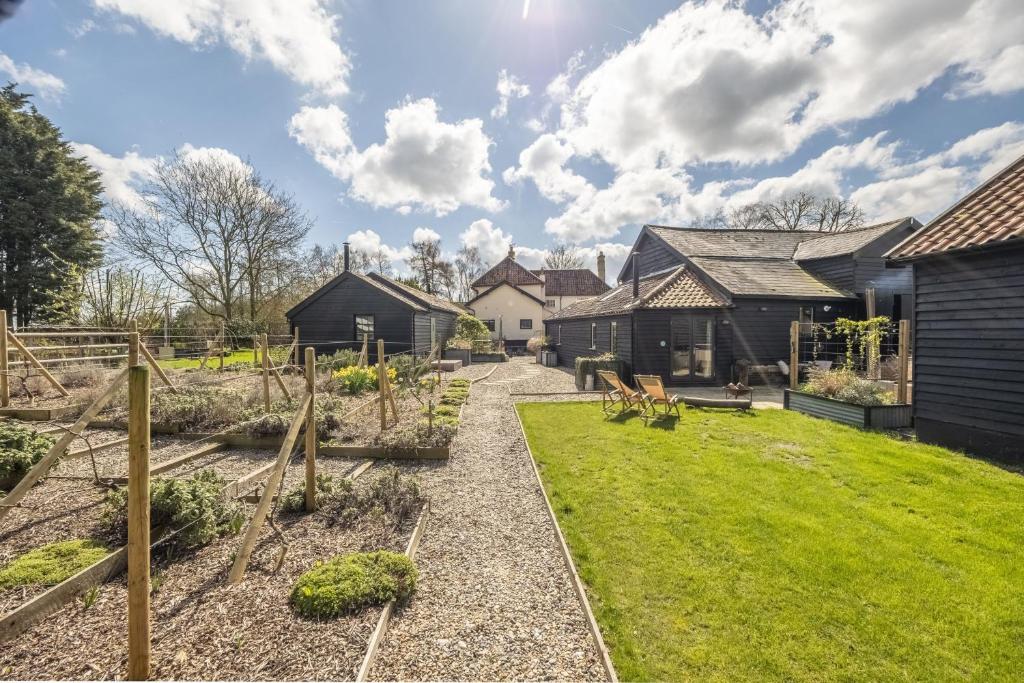
[[[927,221],[1024,154],[1020,0],[24,0],[16,81],[109,201],[238,158],[308,241],[557,243],[613,276],[644,223],[796,191]]]

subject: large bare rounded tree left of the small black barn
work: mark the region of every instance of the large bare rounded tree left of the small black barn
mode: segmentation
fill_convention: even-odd
[[[232,321],[248,298],[288,286],[286,273],[309,222],[292,199],[248,165],[175,156],[140,188],[141,206],[114,203],[117,245],[159,271],[205,313]]]

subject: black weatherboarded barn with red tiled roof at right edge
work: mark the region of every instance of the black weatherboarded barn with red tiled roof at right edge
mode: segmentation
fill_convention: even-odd
[[[914,272],[918,437],[1024,460],[1024,157],[889,256]]]

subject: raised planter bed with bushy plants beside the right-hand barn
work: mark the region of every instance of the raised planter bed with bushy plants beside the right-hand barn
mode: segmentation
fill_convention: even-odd
[[[893,402],[891,392],[848,368],[812,371],[799,391],[785,390],[783,407],[863,428],[897,429],[913,420],[908,403]]]

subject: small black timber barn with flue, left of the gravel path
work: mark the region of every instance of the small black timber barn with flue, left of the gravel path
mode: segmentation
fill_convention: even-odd
[[[351,271],[347,245],[345,252],[344,271],[285,313],[292,331],[299,329],[300,341],[309,340],[317,354],[325,354],[361,347],[365,332],[376,362],[378,339],[384,340],[388,355],[426,355],[432,339],[443,348],[455,336],[462,308],[376,272]]]

